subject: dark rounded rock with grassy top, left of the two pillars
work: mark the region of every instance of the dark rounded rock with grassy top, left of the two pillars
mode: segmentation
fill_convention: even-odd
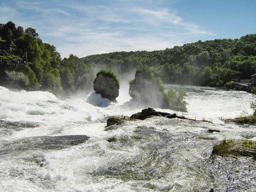
[[[117,102],[119,95],[119,80],[111,71],[101,70],[93,82],[93,89],[101,97]]]

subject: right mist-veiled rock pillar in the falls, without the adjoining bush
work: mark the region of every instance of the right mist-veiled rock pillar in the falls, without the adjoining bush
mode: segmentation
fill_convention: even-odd
[[[146,70],[136,71],[135,79],[130,82],[129,88],[129,95],[132,97],[134,105],[154,108],[161,108],[166,105],[163,90],[153,78]]]

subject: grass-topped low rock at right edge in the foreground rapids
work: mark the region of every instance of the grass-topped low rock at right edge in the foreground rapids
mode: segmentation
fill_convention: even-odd
[[[215,145],[212,154],[256,159],[256,143],[251,140],[223,140]]]

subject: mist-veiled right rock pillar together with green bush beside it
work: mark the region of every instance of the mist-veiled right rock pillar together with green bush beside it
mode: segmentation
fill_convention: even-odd
[[[136,71],[135,79],[130,81],[129,95],[131,103],[140,107],[169,108],[171,110],[186,112],[186,93],[174,90],[164,91],[163,82],[155,77],[152,68]]]

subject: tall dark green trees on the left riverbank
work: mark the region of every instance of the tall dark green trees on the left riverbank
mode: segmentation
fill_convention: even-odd
[[[60,57],[53,45],[42,42],[33,28],[15,27],[11,21],[0,24],[0,84],[8,80],[6,71],[27,76],[27,90],[47,90],[70,94],[91,88],[92,65],[74,55]]]

